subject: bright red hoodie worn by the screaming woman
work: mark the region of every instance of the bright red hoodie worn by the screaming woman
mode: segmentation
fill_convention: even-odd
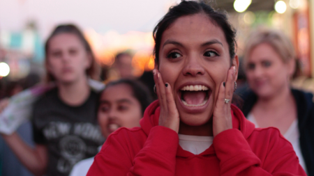
[[[232,105],[233,129],[218,134],[201,154],[179,145],[178,134],[158,126],[160,108],[153,102],[141,127],[111,134],[87,176],[98,175],[306,175],[292,145],[278,129],[255,129]]]

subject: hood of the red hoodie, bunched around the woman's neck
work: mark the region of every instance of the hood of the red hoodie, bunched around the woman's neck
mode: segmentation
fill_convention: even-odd
[[[231,105],[231,114],[233,128],[239,129],[239,131],[241,131],[241,133],[243,134],[244,138],[248,138],[254,131],[255,125],[252,122],[246,120],[241,110],[238,109],[237,106],[234,106],[233,104]],[[140,125],[147,136],[149,136],[149,132],[153,127],[158,126],[159,115],[160,106],[159,101],[156,100],[147,107],[147,109],[144,112],[144,117],[142,118],[142,120],[140,120]],[[190,155],[190,152],[182,150],[183,149],[179,146],[177,155],[181,157],[189,157],[188,155]],[[208,152],[211,153],[214,151],[211,151],[211,147],[209,147],[209,149],[205,150],[205,152],[203,152],[202,154],[209,154]]]

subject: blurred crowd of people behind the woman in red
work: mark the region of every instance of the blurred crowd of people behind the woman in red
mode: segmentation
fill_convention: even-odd
[[[140,127],[145,109],[158,99],[152,70],[136,77],[132,59],[131,52],[120,52],[101,68],[77,26],[57,26],[45,43],[44,77],[0,79],[0,114],[14,106],[13,97],[43,88],[33,94],[30,117],[13,132],[1,132],[0,175],[87,175],[106,138],[121,127]],[[314,175],[314,86],[299,67],[281,31],[253,31],[232,102],[256,128],[279,129],[301,167]]]

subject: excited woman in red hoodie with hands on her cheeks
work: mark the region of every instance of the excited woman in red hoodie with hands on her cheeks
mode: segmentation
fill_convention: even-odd
[[[255,129],[232,105],[235,32],[205,3],[182,1],[154,29],[158,100],[119,129],[91,175],[306,175],[278,129]]]

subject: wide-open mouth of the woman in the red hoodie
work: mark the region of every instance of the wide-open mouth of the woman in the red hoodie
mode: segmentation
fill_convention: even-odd
[[[200,107],[207,104],[211,89],[204,85],[188,85],[181,88],[180,93],[184,106]]]

